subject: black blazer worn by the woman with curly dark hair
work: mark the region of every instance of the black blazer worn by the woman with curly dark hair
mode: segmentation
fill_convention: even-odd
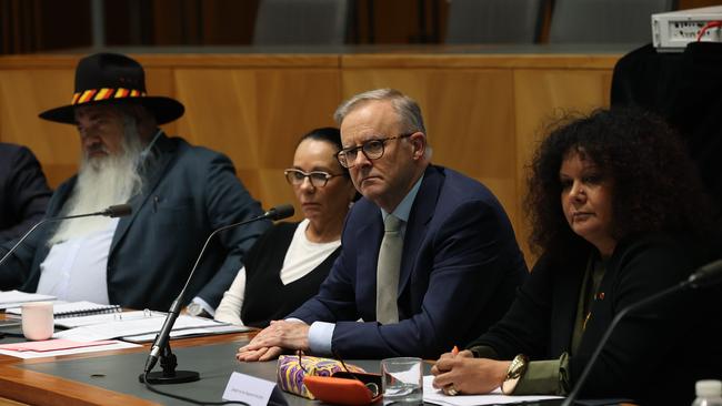
[[[705,260],[692,254],[698,251],[669,235],[621,241],[573,354],[572,329],[591,251],[564,262],[542,256],[504,318],[470,346],[491,346],[500,359],[517,354],[555,359],[570,353],[573,385],[616,313],[684,280]],[[690,404],[696,379],[722,377],[719,297],[720,292],[688,292],[628,314],[604,346],[582,396]]]

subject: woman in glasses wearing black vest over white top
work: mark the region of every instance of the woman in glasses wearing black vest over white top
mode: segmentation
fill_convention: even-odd
[[[318,292],[340,252],[343,220],[357,196],[349,171],[335,159],[341,148],[334,128],[301,138],[284,174],[305,219],[277,223],[258,240],[215,319],[265,327]]]

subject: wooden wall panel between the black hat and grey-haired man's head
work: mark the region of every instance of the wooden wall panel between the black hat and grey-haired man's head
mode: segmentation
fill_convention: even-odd
[[[333,125],[339,77],[338,69],[178,69],[177,97],[189,111],[178,132],[228,154],[264,206],[295,203],[282,171],[302,134]]]

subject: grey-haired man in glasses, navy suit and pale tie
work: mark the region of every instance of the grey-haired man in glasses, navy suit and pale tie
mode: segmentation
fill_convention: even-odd
[[[505,313],[527,276],[507,214],[481,183],[430,164],[421,111],[399,91],[358,94],[335,119],[344,146],[337,156],[363,195],[341,255],[315,297],[237,357],[293,348],[432,358],[467,344]],[[394,251],[395,265],[387,260]]]

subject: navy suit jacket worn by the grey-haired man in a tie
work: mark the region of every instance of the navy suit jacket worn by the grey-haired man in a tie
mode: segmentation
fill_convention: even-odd
[[[342,357],[434,358],[487,331],[527,276],[511,224],[481,183],[429,166],[407,223],[398,324],[375,322],[375,274],[383,222],[377,205],[357,202],[341,255],[319,294],[293,312],[307,323],[334,322]],[[357,323],[363,318],[364,323]]]

